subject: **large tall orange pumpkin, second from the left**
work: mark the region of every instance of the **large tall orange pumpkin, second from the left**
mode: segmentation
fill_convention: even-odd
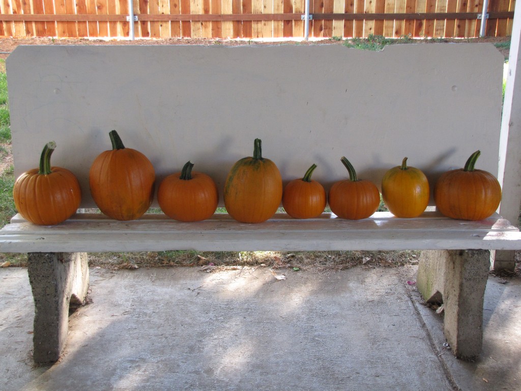
[[[154,167],[141,152],[125,148],[115,130],[109,136],[112,150],[98,155],[89,172],[92,198],[110,218],[133,220],[152,203]]]

